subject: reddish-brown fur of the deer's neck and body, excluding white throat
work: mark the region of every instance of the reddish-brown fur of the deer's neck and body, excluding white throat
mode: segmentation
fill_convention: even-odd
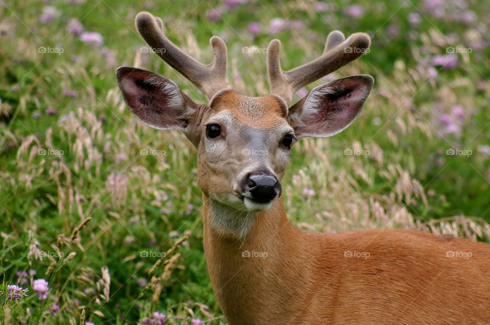
[[[209,275],[230,325],[490,323],[486,244],[406,230],[307,233],[289,223],[281,201],[242,242],[211,229],[206,196],[203,213]]]

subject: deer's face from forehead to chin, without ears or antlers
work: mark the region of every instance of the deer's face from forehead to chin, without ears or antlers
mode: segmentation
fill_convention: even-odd
[[[240,210],[263,210],[281,195],[280,180],[296,137],[275,96],[225,91],[213,99],[199,144],[199,185]]]

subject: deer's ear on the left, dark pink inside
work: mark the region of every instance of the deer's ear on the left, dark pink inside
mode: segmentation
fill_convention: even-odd
[[[131,67],[117,69],[117,84],[131,112],[159,130],[186,130],[197,104],[170,79]]]

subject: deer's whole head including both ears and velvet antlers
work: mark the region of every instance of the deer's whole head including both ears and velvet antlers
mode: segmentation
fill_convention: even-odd
[[[184,132],[198,149],[203,193],[234,210],[271,207],[281,195],[292,145],[303,137],[329,137],[346,129],[374,82],[366,75],[331,81],[289,107],[301,87],[362,55],[370,46],[364,33],[345,39],[339,31],[331,32],[322,56],[290,71],[281,69],[280,42],[273,40],[267,48],[271,94],[248,97],[226,85],[227,48],[219,37],[210,40],[213,62],[203,65],[165,37],[161,19],[141,12],[136,27],[165,62],[205,94],[208,104],[194,103],[157,73],[120,67],[117,81],[127,105],[152,128]]]

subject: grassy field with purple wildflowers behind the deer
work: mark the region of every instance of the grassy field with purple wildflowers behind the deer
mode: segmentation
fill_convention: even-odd
[[[422,229],[490,239],[490,2],[0,0],[0,323],[225,324],[202,245],[196,152],[131,115],[118,66],[204,96],[139,37],[150,11],[184,51],[268,93],[332,30],[372,37],[360,59],[301,89],[371,74],[359,118],[291,152],[283,199],[301,229]]]

